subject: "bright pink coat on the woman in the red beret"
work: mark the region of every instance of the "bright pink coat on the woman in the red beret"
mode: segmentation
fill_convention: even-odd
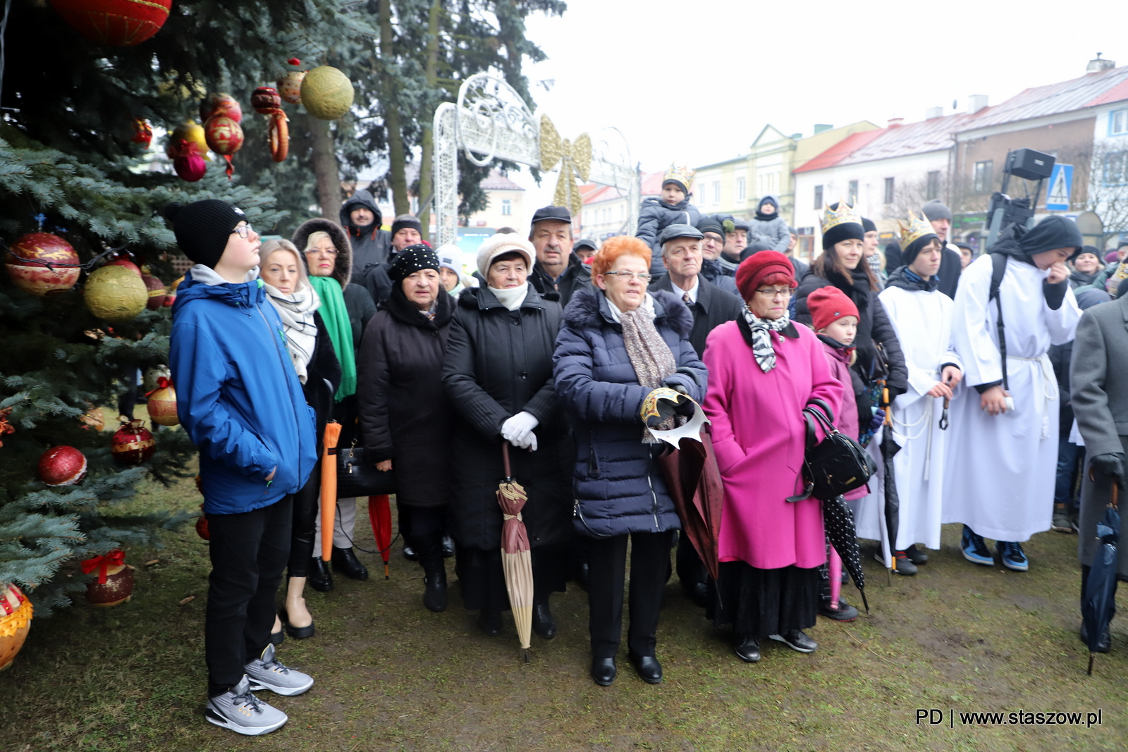
[[[760,569],[811,568],[827,560],[822,503],[786,501],[803,488],[802,410],[819,398],[837,415],[844,390],[813,331],[792,324],[770,337],[776,368],[767,373],[757,365],[740,322],[722,324],[706,342],[703,407],[713,422],[724,479],[720,559]]]

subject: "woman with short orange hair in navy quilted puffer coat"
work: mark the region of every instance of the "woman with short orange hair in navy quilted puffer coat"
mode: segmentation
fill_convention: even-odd
[[[629,657],[645,681],[662,680],[655,635],[680,523],[658,461],[662,445],[650,443],[640,408],[661,386],[700,401],[708,380],[689,344],[693,315],[671,293],[646,292],[649,266],[650,248],[637,238],[605,242],[592,260],[598,289],[573,295],[553,357],[575,428],[574,523],[590,539],[591,675],[602,685],[616,674],[628,536]]]

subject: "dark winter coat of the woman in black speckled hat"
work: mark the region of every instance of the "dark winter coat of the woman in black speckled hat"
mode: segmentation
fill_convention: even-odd
[[[429,319],[396,285],[356,353],[362,443],[373,461],[393,461],[396,501],[408,506],[446,506],[451,498],[453,414],[442,388],[442,359],[453,308],[440,287]]]

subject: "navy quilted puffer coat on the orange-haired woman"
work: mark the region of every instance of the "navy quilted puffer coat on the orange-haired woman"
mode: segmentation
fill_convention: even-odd
[[[669,345],[678,372],[669,382],[705,398],[708,371],[689,333],[693,313],[669,292],[652,292],[654,327]],[[575,428],[573,523],[588,537],[660,532],[680,528],[658,455],[666,444],[644,444],[638,415],[650,389],[641,387],[611,318],[607,298],[578,290],[564,309],[564,326],[553,355],[556,393]]]

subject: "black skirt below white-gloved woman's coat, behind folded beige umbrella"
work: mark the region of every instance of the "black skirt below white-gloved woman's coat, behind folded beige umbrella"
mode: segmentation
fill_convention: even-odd
[[[566,589],[570,561],[567,549],[567,546],[541,546],[532,549],[532,591],[538,600],[547,598],[549,593],[563,593]],[[455,556],[455,573],[462,593],[462,604],[470,611],[508,611],[509,591],[505,590],[505,572],[501,566],[501,549],[485,551],[459,546]]]

